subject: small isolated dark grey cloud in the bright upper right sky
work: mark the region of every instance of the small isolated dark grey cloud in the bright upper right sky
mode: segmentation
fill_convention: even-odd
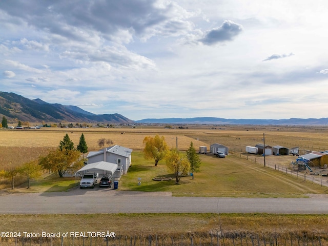
[[[231,41],[234,37],[242,32],[242,26],[232,22],[231,20],[224,20],[222,26],[217,29],[209,31],[200,41],[206,45],[214,45],[226,41]]]

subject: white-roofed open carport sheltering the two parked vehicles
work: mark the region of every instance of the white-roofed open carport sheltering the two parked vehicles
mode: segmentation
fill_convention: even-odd
[[[117,167],[117,164],[106,161],[90,163],[75,172],[75,182],[78,176],[81,177],[85,173],[98,173],[100,178],[104,176],[113,177]]]

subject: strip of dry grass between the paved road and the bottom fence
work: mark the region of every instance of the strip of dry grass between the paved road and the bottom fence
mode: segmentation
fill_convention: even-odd
[[[0,231],[115,232],[116,236],[258,234],[327,238],[328,215],[296,214],[0,214]],[[106,223],[105,221],[109,221]]]

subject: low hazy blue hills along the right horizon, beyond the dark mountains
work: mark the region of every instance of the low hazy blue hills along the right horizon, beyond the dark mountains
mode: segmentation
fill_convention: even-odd
[[[328,124],[328,118],[320,119],[225,119],[216,117],[141,119],[136,123],[149,124],[208,124],[208,125],[318,125]]]

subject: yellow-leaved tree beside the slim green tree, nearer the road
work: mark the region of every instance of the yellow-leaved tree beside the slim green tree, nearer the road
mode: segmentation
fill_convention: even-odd
[[[178,149],[171,149],[166,156],[166,166],[169,172],[174,172],[175,183],[179,183],[182,175],[186,175],[190,169],[190,162],[187,155],[179,152]]]

